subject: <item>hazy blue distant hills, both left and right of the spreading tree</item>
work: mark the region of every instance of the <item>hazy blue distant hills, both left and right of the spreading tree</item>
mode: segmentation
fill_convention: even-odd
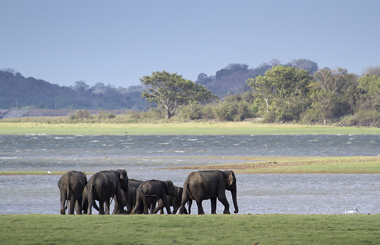
[[[249,68],[246,64],[229,64],[220,69],[216,75],[207,76],[200,73],[196,83],[204,85],[208,90],[223,98],[231,94],[242,94],[251,88],[245,83],[248,78],[264,75],[265,71],[279,65],[277,59],[263,63],[259,67]],[[317,63],[299,59],[286,64],[311,73],[318,70]],[[141,98],[142,86],[129,88],[97,83],[90,87],[83,81],[76,81],[74,86],[66,87],[51,84],[48,81],[24,77],[19,72],[0,70],[0,109],[132,109],[148,110],[156,107]]]

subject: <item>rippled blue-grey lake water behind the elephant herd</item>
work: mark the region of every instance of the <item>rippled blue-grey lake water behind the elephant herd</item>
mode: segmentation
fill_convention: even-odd
[[[0,135],[0,171],[98,172],[183,186],[193,170],[165,167],[228,164],[223,156],[377,156],[378,135],[56,136]],[[181,158],[188,156],[218,159]],[[171,158],[161,158],[171,157]],[[59,214],[60,176],[0,176],[0,214]],[[90,176],[88,176],[90,178]],[[239,214],[380,213],[380,175],[236,174]],[[233,212],[231,194],[226,191]],[[218,201],[217,213],[223,213]],[[210,201],[203,201],[210,213]],[[94,213],[97,213],[94,211]],[[193,202],[192,213],[197,213]]]

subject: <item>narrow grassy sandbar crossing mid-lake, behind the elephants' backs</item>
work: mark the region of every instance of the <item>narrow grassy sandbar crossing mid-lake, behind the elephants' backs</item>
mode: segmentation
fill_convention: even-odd
[[[161,157],[155,159],[202,159],[220,157]],[[146,159],[146,158],[144,158]],[[380,174],[380,157],[224,157],[239,164],[172,167],[166,169],[234,170],[236,174]],[[63,175],[65,172],[0,171],[0,175]],[[94,174],[94,173],[86,173]]]

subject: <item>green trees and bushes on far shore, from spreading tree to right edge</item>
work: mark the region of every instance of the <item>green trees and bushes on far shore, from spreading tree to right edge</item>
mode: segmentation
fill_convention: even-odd
[[[209,79],[202,73],[199,77]],[[341,67],[299,68],[294,60],[293,65],[272,65],[263,75],[248,78],[245,83],[250,90],[230,93],[223,99],[206,89],[207,82],[188,85],[183,95],[183,86],[174,82],[178,80],[180,85],[182,79],[177,73],[153,72],[141,79],[142,85],[150,88],[142,97],[165,107],[167,118],[179,109],[187,119],[241,121],[261,117],[264,122],[380,126],[380,66],[367,67],[359,76]],[[180,106],[168,109],[168,104],[179,101]]]

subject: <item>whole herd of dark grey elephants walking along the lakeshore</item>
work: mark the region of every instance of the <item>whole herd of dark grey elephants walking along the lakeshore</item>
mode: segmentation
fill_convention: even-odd
[[[233,171],[198,171],[190,173],[183,187],[172,181],[128,179],[125,170],[109,170],[95,173],[89,180],[84,172],[70,171],[58,181],[61,192],[62,215],[92,214],[92,207],[100,215],[110,214],[110,203],[114,200],[112,214],[156,214],[163,208],[167,214],[190,214],[195,200],[198,214],[204,214],[202,201],[211,200],[211,213],[216,214],[217,198],[224,205],[224,214],[230,214],[226,190],[231,191],[237,214],[236,178]],[[96,201],[99,202],[99,206]],[[188,211],[185,208],[189,204]],[[157,207],[156,207],[157,205]],[[173,206],[173,212],[171,211]],[[126,207],[126,210],[124,210]]]

